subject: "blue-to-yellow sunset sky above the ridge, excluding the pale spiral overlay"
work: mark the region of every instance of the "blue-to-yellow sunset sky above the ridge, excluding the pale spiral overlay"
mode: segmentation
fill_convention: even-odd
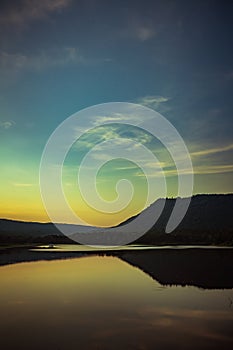
[[[191,155],[194,194],[233,192],[232,37],[230,1],[1,1],[0,217],[50,221],[39,186],[46,142],[70,115],[108,102],[141,104],[172,123]],[[145,177],[123,159],[103,166],[97,187],[111,201],[126,178],[134,201],[106,214],[83,200],[75,166],[103,140],[130,137],[160,153],[167,196],[177,196],[166,150],[124,130],[97,127],[64,163],[64,193],[87,224],[117,224],[145,204]],[[60,221],[69,220],[60,213]]]

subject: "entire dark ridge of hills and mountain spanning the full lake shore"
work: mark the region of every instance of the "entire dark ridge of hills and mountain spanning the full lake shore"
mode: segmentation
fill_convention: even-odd
[[[186,199],[179,198],[180,205]],[[161,205],[165,204],[156,221]],[[69,237],[92,245],[122,245],[128,242],[151,245],[216,244],[233,245],[233,194],[196,195],[179,226],[169,234],[165,228],[175,199],[159,199],[140,215],[127,219],[113,228],[96,228],[81,225],[62,226]],[[143,232],[146,232],[142,235]],[[111,234],[110,234],[111,233]],[[141,236],[142,235],[142,236]],[[73,243],[52,223],[29,223],[0,220],[0,243]]]

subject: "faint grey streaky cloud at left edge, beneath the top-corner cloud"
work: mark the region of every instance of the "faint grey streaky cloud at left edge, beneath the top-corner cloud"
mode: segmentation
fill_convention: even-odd
[[[22,70],[41,70],[81,62],[83,62],[83,57],[75,47],[50,49],[34,54],[0,52],[0,71],[4,74],[12,74]]]

